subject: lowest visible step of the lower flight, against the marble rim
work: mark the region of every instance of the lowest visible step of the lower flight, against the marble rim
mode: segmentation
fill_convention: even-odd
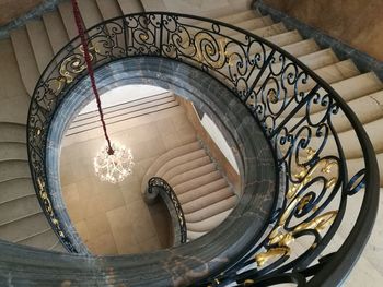
[[[197,239],[205,235],[207,231],[210,231],[224,222],[231,212],[232,210],[227,210],[198,223],[186,223],[187,237],[189,239]]]

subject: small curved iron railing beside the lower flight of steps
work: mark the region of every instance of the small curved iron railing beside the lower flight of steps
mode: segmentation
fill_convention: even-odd
[[[149,179],[148,192],[153,193],[154,188],[160,189],[160,192],[163,192],[172,203],[175,211],[175,218],[177,219],[177,223],[179,226],[179,243],[186,243],[187,241],[186,220],[185,220],[185,215],[182,210],[181,203],[177,199],[177,195],[175,194],[172,187],[162,178],[153,177]],[[178,242],[174,242],[174,243],[178,243]]]

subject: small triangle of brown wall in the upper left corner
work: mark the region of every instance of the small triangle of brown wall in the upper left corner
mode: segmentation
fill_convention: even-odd
[[[0,0],[0,26],[25,14],[44,0]]]

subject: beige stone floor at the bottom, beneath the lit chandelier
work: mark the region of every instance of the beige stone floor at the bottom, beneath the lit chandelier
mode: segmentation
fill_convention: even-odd
[[[126,121],[125,130],[112,132],[111,139],[130,147],[135,157],[134,174],[118,184],[101,182],[93,171],[93,157],[103,137],[68,137],[71,144],[62,147],[60,159],[62,195],[69,216],[91,252],[126,254],[169,247],[169,212],[163,203],[148,206],[140,187],[155,158],[188,139],[195,140],[187,117],[179,107],[175,113],[170,109],[167,117],[162,112],[160,119],[153,115],[141,117],[142,124],[137,124],[137,119],[135,124]]]

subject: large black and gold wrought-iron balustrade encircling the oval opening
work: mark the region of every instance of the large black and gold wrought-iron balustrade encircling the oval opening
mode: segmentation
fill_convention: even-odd
[[[241,28],[197,16],[141,13],[112,19],[88,31],[95,69],[129,57],[163,57],[195,67],[233,92],[254,115],[274,150],[282,191],[269,226],[242,259],[199,286],[335,286],[361,254],[379,202],[379,172],[367,133],[351,109],[322,79],[276,45]],[[27,144],[37,196],[54,230],[77,252],[51,204],[46,148],[49,123],[68,91],[86,76],[74,38],[51,60],[35,88]],[[219,96],[219,95],[217,95]],[[364,166],[348,174],[338,119],[347,119]],[[262,152],[262,151],[260,151]],[[360,211],[345,242],[326,253],[359,194]],[[172,196],[174,194],[172,193]],[[355,211],[356,212],[356,211]],[[184,220],[185,223],[185,220]],[[294,248],[301,242],[303,250]],[[323,256],[318,263],[317,258]]]

